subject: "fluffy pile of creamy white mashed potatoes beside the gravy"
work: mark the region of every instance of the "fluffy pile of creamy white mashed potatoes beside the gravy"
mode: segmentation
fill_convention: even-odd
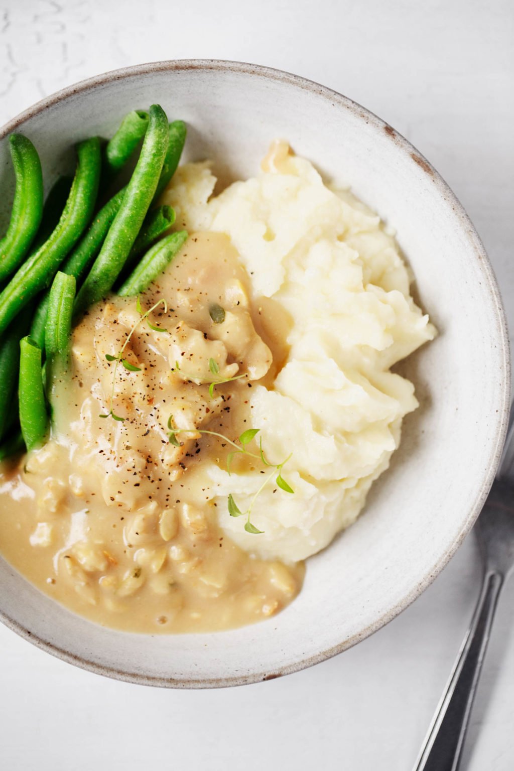
[[[204,472],[220,527],[260,557],[298,561],[358,517],[371,483],[398,447],[401,419],[416,408],[414,386],[389,372],[435,329],[409,294],[395,238],[348,190],[324,184],[311,163],[275,143],[255,178],[210,198],[208,163],[186,164],[164,200],[190,231],[227,234],[250,275],[254,297],[291,316],[289,352],[272,388],[250,396],[252,425],[267,456],[284,466],[294,495],[270,483],[244,531],[227,513],[262,484],[257,471]]]

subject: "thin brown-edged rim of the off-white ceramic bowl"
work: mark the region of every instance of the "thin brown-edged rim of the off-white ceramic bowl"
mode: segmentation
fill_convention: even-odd
[[[59,648],[57,645],[45,641],[38,635],[34,635],[28,628],[25,628],[18,621],[10,618],[0,609],[0,621],[5,626],[25,640],[32,642],[37,648],[41,648],[43,651],[54,655],[57,658],[62,659],[69,664],[78,666],[79,668],[86,669],[89,672],[95,672],[98,675],[104,675],[110,678],[115,678],[124,682],[132,682],[138,685],[155,685],[168,688],[180,688],[180,689],[200,689],[200,688],[221,688],[233,685],[246,685],[254,682],[261,682],[266,680],[272,680],[282,675],[289,675],[293,672],[298,672],[301,669],[311,667],[314,664],[326,661],[342,651],[353,647],[358,642],[361,642],[365,638],[372,635],[375,631],[378,631],[381,627],[392,621],[401,611],[408,608],[408,605],[412,604],[415,599],[425,591],[426,588],[435,577],[442,571],[443,567],[451,559],[455,551],[459,548],[464,540],[465,536],[471,530],[472,525],[475,523],[476,518],[479,516],[480,511],[485,503],[485,499],[489,493],[492,483],[495,478],[496,469],[499,465],[499,461],[502,456],[503,444],[506,438],[507,426],[509,423],[509,409],[510,409],[510,385],[511,385],[511,368],[510,368],[510,342],[509,332],[506,322],[505,310],[502,304],[502,298],[499,291],[499,286],[496,281],[496,276],[492,269],[489,257],[485,252],[485,248],[479,237],[479,234],[475,230],[472,221],[466,214],[464,207],[460,203],[459,199],[455,196],[452,189],[443,180],[441,175],[432,167],[432,164],[420,153],[412,143],[408,142],[404,136],[398,133],[392,126],[381,120],[375,113],[371,113],[370,110],[361,106],[348,96],[344,96],[334,89],[328,88],[328,86],[322,86],[313,80],[297,76],[291,72],[285,72],[281,69],[275,69],[273,67],[267,67],[257,64],[250,64],[247,62],[233,62],[226,59],[170,59],[159,62],[146,62],[139,65],[123,67],[120,69],[109,70],[103,72],[100,75],[92,76],[88,79],[81,80],[72,86],[67,86],[64,89],[60,89],[50,96],[41,99],[28,109],[25,109],[22,113],[18,113],[17,116],[5,123],[0,128],[0,140],[4,139],[9,133],[12,133],[18,126],[25,123],[26,120],[39,115],[45,109],[62,102],[64,99],[69,99],[71,96],[76,96],[88,91],[96,89],[98,86],[105,86],[111,82],[123,80],[126,78],[133,78],[137,76],[144,76],[153,72],[179,72],[181,70],[197,70],[197,71],[215,71],[215,72],[235,72],[240,75],[254,76],[257,78],[274,80],[285,83],[289,86],[309,91],[317,96],[321,96],[324,99],[329,99],[331,103],[337,104],[340,107],[351,110],[358,118],[365,120],[367,123],[373,123],[376,127],[388,134],[391,141],[395,143],[402,153],[406,153],[418,166],[432,178],[432,181],[438,188],[438,193],[445,198],[445,204],[447,207],[452,208],[455,216],[458,216],[462,221],[462,225],[465,226],[465,230],[469,235],[470,251],[474,252],[475,260],[479,261],[482,274],[485,278],[485,290],[489,291],[492,299],[492,305],[496,307],[497,312],[497,324],[499,328],[499,345],[501,345],[501,354],[504,366],[504,375],[502,382],[502,404],[499,405],[497,411],[497,441],[496,447],[489,457],[489,462],[484,470],[484,476],[482,480],[482,488],[480,490],[479,497],[475,500],[474,506],[468,513],[468,517],[462,524],[459,534],[455,537],[452,544],[448,544],[448,547],[444,553],[439,557],[437,563],[428,571],[428,574],[419,581],[404,598],[401,599],[393,608],[386,611],[371,625],[368,625],[365,629],[359,631],[356,635],[349,639],[334,645],[324,651],[320,651],[316,655],[309,656],[307,658],[300,658],[297,661],[279,668],[277,672],[270,672],[268,675],[262,675],[260,672],[248,672],[245,675],[239,675],[237,677],[220,677],[220,678],[203,678],[198,680],[178,680],[174,678],[163,678],[159,676],[142,675],[139,672],[127,672],[119,668],[110,668],[91,661],[88,658],[77,656],[70,651],[66,651],[63,648]],[[14,570],[14,568],[13,568]]]

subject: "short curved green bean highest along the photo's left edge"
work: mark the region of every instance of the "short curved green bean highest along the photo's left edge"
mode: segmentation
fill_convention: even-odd
[[[9,136],[16,190],[11,221],[0,241],[0,281],[22,264],[38,231],[42,217],[43,177],[35,146],[22,134]]]

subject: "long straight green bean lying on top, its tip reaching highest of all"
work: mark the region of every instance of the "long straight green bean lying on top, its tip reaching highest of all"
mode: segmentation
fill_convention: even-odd
[[[159,105],[152,105],[143,148],[126,187],[123,204],[77,295],[76,317],[89,305],[105,297],[118,278],[156,191],[167,146],[166,113]]]

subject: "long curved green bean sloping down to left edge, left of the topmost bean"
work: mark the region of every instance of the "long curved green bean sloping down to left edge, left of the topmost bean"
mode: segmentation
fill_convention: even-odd
[[[92,217],[98,193],[100,145],[98,137],[79,143],[79,162],[66,207],[59,224],[0,294],[0,335],[15,315],[45,289],[69,250],[76,244]]]

